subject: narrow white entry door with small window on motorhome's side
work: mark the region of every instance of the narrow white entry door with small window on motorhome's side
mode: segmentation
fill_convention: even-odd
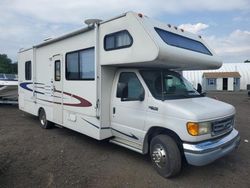
[[[62,55],[52,58],[53,71],[53,121],[62,125],[63,122],[63,85],[62,85]]]

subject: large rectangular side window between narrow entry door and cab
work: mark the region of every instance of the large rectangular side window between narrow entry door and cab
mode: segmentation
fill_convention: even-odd
[[[94,48],[88,48],[66,54],[66,79],[95,79]]]

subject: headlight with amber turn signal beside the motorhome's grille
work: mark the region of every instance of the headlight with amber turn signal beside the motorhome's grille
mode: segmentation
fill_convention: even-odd
[[[210,122],[188,122],[187,131],[192,136],[199,136],[203,134],[211,133],[211,123]]]

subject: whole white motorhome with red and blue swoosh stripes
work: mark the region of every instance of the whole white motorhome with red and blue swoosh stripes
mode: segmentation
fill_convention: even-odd
[[[19,108],[42,128],[54,123],[149,154],[164,177],[238,145],[234,107],[179,73],[221,66],[200,36],[133,12],[86,23],[19,52]]]

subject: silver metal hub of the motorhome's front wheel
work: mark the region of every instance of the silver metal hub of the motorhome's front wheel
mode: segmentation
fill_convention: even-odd
[[[167,155],[162,145],[157,144],[154,146],[154,149],[152,152],[152,160],[160,168],[163,168],[166,166]]]

